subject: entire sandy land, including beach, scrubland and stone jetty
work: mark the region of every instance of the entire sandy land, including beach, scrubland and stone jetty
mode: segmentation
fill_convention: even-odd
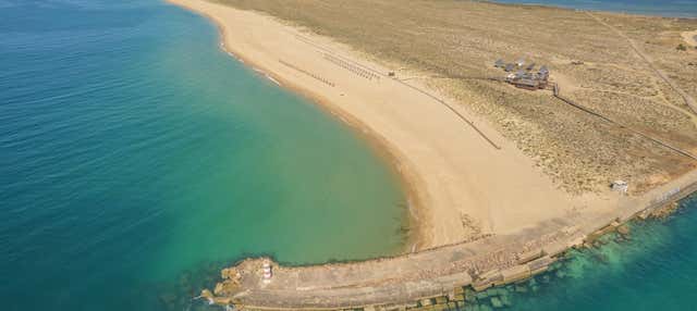
[[[224,269],[212,291],[204,290],[201,297],[211,303],[396,310],[414,301],[463,300],[463,288],[485,290],[541,273],[567,249],[590,245],[634,217],[660,214],[667,206],[670,210],[697,189],[689,153],[695,119],[689,89],[683,90],[692,77],[682,71],[669,76],[663,67],[671,70],[686,58],[667,54],[683,38],[664,32],[657,43],[640,43],[614,25],[640,25],[643,17],[536,8],[529,16],[509,20],[521,7],[477,1],[415,1],[418,8],[393,1],[169,1],[212,20],[231,55],[375,141],[409,198],[411,241],[404,254],[309,266],[246,259]],[[379,8],[367,13],[374,4]],[[511,25],[480,26],[491,14],[505,16],[497,23],[513,26],[555,16],[574,25],[548,30],[584,30],[572,39],[537,36],[530,37],[537,42],[523,42],[498,33]],[[409,16],[425,21],[405,22]],[[424,26],[439,25],[440,18],[448,18],[441,28]],[[682,23],[692,22],[675,23],[661,25],[684,29]],[[451,35],[456,32],[462,33]],[[460,50],[463,40],[478,49]],[[617,52],[597,53],[587,49],[590,43]],[[564,90],[562,100],[558,89],[554,96],[530,92],[488,78],[491,58],[513,54],[517,45],[529,45],[537,58],[559,70],[551,78]],[[444,47],[457,53],[433,53]],[[626,60],[627,53],[634,61]],[[657,54],[669,55],[670,62],[658,64]],[[626,194],[610,189],[619,178],[632,183]],[[261,271],[269,266],[272,281],[262,281]]]

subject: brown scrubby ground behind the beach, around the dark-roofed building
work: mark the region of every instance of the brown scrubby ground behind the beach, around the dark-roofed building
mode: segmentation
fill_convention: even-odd
[[[485,116],[573,194],[627,179],[635,194],[696,166],[549,92],[462,76],[502,76],[493,61],[546,64],[562,91],[633,128],[697,152],[696,116],[622,39],[584,12],[452,0],[218,0],[346,43],[398,76],[424,83]],[[697,50],[678,51],[696,20],[596,13],[624,32],[697,97]],[[572,61],[583,61],[574,65]]]

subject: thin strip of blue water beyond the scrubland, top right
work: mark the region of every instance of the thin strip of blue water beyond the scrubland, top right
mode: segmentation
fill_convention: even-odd
[[[697,0],[493,0],[493,2],[697,18]]]

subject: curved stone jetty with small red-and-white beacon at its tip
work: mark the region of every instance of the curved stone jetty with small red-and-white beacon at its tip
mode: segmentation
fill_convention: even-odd
[[[392,258],[282,266],[247,259],[222,271],[205,291],[211,302],[252,310],[443,310],[467,303],[466,293],[542,273],[567,249],[697,191],[697,171],[640,197],[624,197],[613,212],[554,219],[515,235],[486,236]],[[262,276],[264,264],[273,271]]]

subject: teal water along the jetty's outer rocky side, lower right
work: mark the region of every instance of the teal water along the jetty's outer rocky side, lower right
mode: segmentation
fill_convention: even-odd
[[[550,272],[470,299],[464,310],[695,310],[697,195],[665,220],[631,224],[628,237],[571,251]],[[499,304],[500,306],[500,304]]]

